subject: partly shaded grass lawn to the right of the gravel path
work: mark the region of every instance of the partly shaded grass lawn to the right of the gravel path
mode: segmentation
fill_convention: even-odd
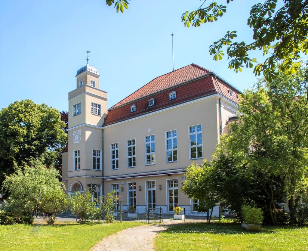
[[[244,230],[240,224],[177,225],[156,237],[155,250],[308,250],[308,227],[262,226],[261,229],[255,233]]]

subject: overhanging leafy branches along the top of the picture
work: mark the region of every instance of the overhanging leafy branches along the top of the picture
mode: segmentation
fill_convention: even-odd
[[[227,4],[233,0],[227,0]],[[211,1],[209,5],[202,5],[193,11],[182,14],[182,22],[185,27],[199,27],[204,23],[217,21],[227,11],[222,2]],[[279,70],[286,75],[293,74],[300,66],[301,53],[308,53],[307,30],[308,1],[283,0],[282,7],[278,9],[278,0],[263,0],[252,6],[247,24],[253,28],[253,41],[234,41],[236,31],[227,31],[226,35],[210,46],[210,55],[214,60],[221,60],[225,53],[228,56],[229,68],[236,72],[243,67],[254,68],[253,72],[259,76],[261,72],[265,80],[271,82],[277,76],[277,63]],[[117,12],[128,9],[126,0],[106,0],[111,6],[115,5]],[[226,47],[225,50],[223,50]],[[257,62],[251,58],[249,52],[260,50],[266,55],[264,62]]]

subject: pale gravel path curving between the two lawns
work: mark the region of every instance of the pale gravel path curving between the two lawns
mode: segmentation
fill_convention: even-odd
[[[173,221],[167,224],[127,228],[99,241],[90,251],[154,251],[155,235],[167,229],[170,224],[178,223]]]

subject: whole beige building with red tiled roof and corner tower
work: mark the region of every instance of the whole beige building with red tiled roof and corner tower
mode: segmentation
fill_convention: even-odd
[[[99,71],[86,65],[68,93],[68,145],[63,183],[70,194],[95,186],[115,190],[129,206],[193,207],[181,186],[186,168],[211,159],[227,121],[237,112],[237,88],[190,64],[156,77],[107,109]]]

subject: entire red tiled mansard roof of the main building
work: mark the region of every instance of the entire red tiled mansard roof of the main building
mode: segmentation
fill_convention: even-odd
[[[230,96],[229,89],[233,91],[233,96]],[[176,98],[169,100],[171,91],[176,91]],[[221,93],[237,102],[237,94],[240,92],[219,77],[215,78],[209,70],[191,64],[157,77],[111,107],[107,112],[104,126],[213,93]],[[150,98],[155,98],[155,105],[151,107],[148,106]],[[133,104],[136,105],[136,111],[131,112],[130,107]]]

